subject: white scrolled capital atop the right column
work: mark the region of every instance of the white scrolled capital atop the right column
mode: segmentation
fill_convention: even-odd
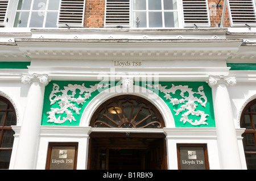
[[[208,84],[210,87],[221,83],[227,86],[234,86],[237,84],[237,79],[235,75],[209,75]]]

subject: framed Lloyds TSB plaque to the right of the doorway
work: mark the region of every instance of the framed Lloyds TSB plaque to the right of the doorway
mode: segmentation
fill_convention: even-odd
[[[177,144],[180,170],[208,170],[207,145]]]

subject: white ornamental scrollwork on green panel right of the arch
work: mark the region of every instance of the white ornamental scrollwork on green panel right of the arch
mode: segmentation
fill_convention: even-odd
[[[181,104],[180,108],[174,111],[175,116],[179,115],[179,113],[181,113],[182,111],[186,111],[184,112],[181,116],[182,118],[180,119],[180,121],[183,121],[183,123],[185,124],[186,122],[190,123],[191,125],[200,125],[200,124],[207,124],[207,116],[209,116],[208,114],[206,114],[204,111],[200,111],[197,110],[197,103],[200,103],[201,106],[205,107],[205,105],[207,104],[207,96],[205,96],[204,94],[204,87],[200,86],[198,88],[198,92],[193,92],[191,88],[189,88],[188,86],[175,86],[172,85],[172,87],[170,89],[166,89],[167,86],[162,86],[162,85],[147,85],[148,87],[154,88],[154,89],[158,89],[161,92],[163,92],[164,94],[166,94],[164,97],[166,99],[170,100],[170,103],[172,103],[172,105],[176,105],[176,104]],[[170,93],[175,94],[176,90],[181,90],[180,92],[180,96],[182,97],[181,99],[177,99],[177,98],[172,98],[172,96],[170,95]],[[188,96],[185,96],[184,93],[188,92]],[[195,94],[200,95],[200,98],[197,98],[197,96],[195,96]],[[188,116],[192,115],[192,116],[197,116],[197,117],[201,117],[200,120],[192,120],[189,119]]]

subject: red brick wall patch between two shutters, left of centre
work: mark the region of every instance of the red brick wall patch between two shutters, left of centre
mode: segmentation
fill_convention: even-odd
[[[105,0],[86,0],[85,28],[103,28],[105,15]]]

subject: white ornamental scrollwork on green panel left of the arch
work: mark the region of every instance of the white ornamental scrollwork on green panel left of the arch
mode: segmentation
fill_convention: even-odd
[[[76,107],[79,104],[84,104],[86,103],[86,99],[90,98],[90,94],[97,89],[101,89],[103,87],[109,86],[108,84],[106,85],[100,85],[96,84],[94,86],[90,86],[90,88],[87,88],[84,86],[84,83],[82,85],[71,85],[69,84],[67,87],[64,87],[63,90],[60,90],[59,85],[56,83],[53,83],[53,89],[51,94],[49,95],[49,101],[52,104],[59,104],[59,108],[51,108],[51,111],[48,111],[47,114],[48,116],[48,122],[54,122],[57,124],[64,123],[65,121],[69,120],[70,123],[72,121],[76,121],[75,117],[73,116],[73,111],[76,112],[77,115],[80,114],[81,108]],[[80,95],[78,98],[75,98],[76,90],[80,90]],[[72,94],[70,93],[72,92]],[[77,97],[77,96],[76,96]],[[66,117],[63,115],[63,118],[61,119],[61,116],[56,118],[56,115],[63,114],[67,115]]]

